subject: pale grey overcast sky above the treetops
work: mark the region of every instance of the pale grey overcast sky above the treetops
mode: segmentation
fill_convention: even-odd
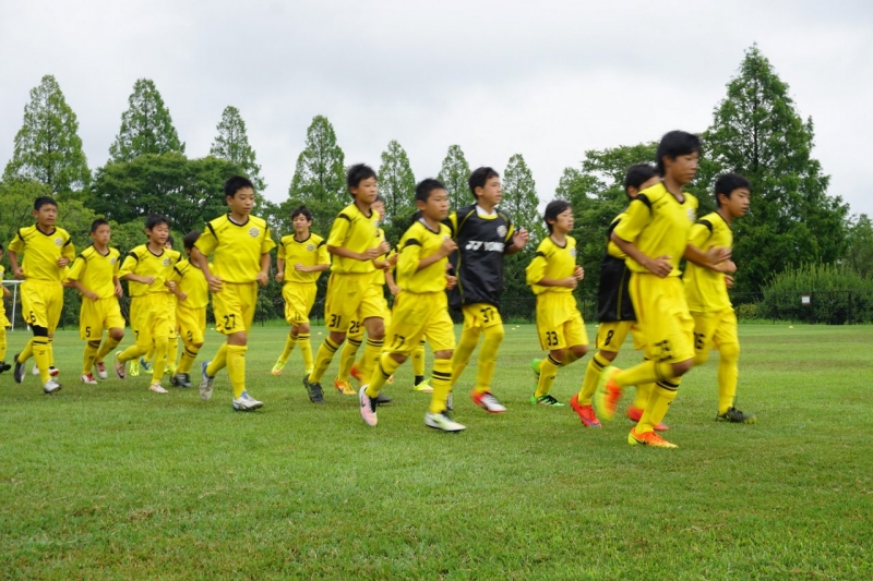
[[[812,116],[829,193],[873,215],[869,1],[0,0],[0,162],[44,74],[92,168],[148,77],[190,157],[239,108],[272,199],[324,114],[347,165],[393,138],[417,179],[451,144],[499,171],[521,153],[546,202],[586,149],[706,129],[753,43]]]

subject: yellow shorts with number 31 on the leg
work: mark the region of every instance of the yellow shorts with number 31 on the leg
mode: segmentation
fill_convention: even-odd
[[[324,323],[330,330],[350,334],[352,323],[384,315],[384,292],[372,280],[372,273],[331,275],[324,301]]]

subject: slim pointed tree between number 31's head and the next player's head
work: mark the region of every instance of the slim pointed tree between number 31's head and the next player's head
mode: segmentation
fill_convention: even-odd
[[[384,228],[391,242],[400,240],[412,214],[415,205],[416,177],[409,166],[406,152],[392,140],[387,149],[382,152],[382,165],[379,167],[379,193],[385,198]]]

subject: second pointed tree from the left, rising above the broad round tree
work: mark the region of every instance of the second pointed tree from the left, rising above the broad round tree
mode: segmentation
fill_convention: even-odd
[[[141,155],[184,153],[170,111],[151,78],[134,83],[128,104],[128,110],[121,113],[121,129],[109,147],[110,161],[119,164]]]

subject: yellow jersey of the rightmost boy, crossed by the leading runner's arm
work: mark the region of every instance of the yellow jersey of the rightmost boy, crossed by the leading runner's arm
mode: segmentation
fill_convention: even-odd
[[[691,227],[689,242],[704,251],[714,245],[730,249],[733,247],[733,231],[725,218],[714,211]],[[707,313],[731,308],[723,273],[716,273],[689,261],[682,279],[685,282],[689,311]]]

